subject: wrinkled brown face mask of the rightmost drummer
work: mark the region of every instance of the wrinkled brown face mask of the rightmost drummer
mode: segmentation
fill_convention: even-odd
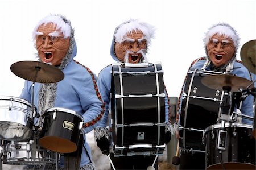
[[[215,34],[207,44],[207,52],[210,61],[216,67],[220,67],[232,59],[235,47],[231,39],[225,38],[224,35]]]

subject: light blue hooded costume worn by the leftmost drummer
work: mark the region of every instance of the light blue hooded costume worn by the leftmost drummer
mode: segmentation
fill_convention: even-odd
[[[62,22],[64,21],[68,23],[71,28],[68,52],[63,58],[60,66],[57,67],[64,73],[64,79],[52,84],[35,83],[34,104],[40,115],[43,115],[44,111],[51,107],[70,109],[82,115],[84,118],[84,124],[82,126],[84,147],[82,147],[80,169],[94,169],[94,164],[90,162],[90,160],[92,160],[92,155],[90,146],[86,142],[85,134],[92,131],[98,125],[104,114],[105,105],[98,92],[95,74],[87,67],[73,60],[76,56],[77,48],[71,23],[63,16],[56,15],[56,17],[59,17]],[[51,94],[51,96],[46,97],[46,94]],[[20,98],[31,102],[31,81],[25,81]],[[47,103],[46,98],[49,98],[49,102]],[[42,122],[38,121],[36,123],[38,126],[42,127]],[[85,148],[88,154],[86,154]]]

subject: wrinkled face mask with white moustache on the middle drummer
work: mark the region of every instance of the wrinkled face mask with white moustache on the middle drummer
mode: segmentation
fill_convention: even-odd
[[[115,55],[125,63],[139,63],[146,52],[147,42],[139,30],[127,34],[127,38],[115,43]],[[125,61],[126,60],[126,61]]]

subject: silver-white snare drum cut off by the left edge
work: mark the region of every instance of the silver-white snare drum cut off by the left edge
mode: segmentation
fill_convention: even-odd
[[[0,139],[24,141],[32,135],[32,105],[21,98],[0,96]]]

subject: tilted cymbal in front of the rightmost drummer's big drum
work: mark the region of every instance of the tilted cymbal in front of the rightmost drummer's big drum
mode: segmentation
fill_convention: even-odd
[[[208,88],[220,91],[223,90],[224,86],[230,87],[231,92],[241,92],[246,88],[251,89],[254,87],[252,82],[246,78],[226,74],[205,76],[201,79],[201,82]]]

